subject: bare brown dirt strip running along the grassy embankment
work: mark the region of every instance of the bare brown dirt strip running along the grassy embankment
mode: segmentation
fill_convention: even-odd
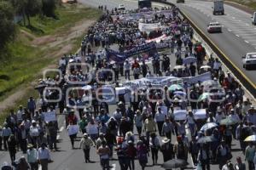
[[[61,35],[55,34],[53,36],[33,37],[29,32],[22,31],[21,33],[27,37],[32,37],[32,44],[34,46],[43,48],[44,50],[55,48],[56,50],[51,50],[51,52],[45,55],[45,57],[51,57],[53,62],[56,63],[56,61],[63,54],[69,54],[71,51],[79,48],[76,42],[84,36],[88,28],[95,22],[96,20],[81,20],[76,23],[70,30],[68,30],[66,34]],[[44,69],[38,72],[36,77],[41,77],[42,72],[49,68],[56,68],[56,65],[50,64],[44,67]],[[23,99],[27,94],[31,93],[31,90],[33,90],[37,82],[38,80],[34,80],[29,84],[20,85],[19,89],[16,90],[14,94],[11,94],[8,98],[3,99],[3,101],[0,102],[0,113],[17,105],[17,102],[20,101],[20,99]]]

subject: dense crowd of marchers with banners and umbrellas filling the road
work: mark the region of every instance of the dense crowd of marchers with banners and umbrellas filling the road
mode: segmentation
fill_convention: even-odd
[[[118,51],[111,49],[116,46]],[[241,84],[195,42],[177,8],[107,11],[90,27],[81,54],[63,56],[58,70],[38,83],[38,103],[28,99],[0,128],[0,150],[9,150],[17,169],[38,169],[38,164],[48,169],[50,152],[58,150],[59,114],[66,116],[71,148],[83,149],[86,163],[96,151],[102,169],[110,169],[113,152],[121,170],[134,170],[135,161],[146,169],[149,155],[153,166],[163,163],[160,152],[163,167],[172,161],[166,169],[177,162],[185,167],[189,156],[202,170],[212,163],[222,170],[245,170],[243,160],[249,170],[255,167],[256,110]],[[125,92],[115,104],[104,101],[105,84],[115,90],[128,82],[137,99]],[[232,140],[244,153],[236,162],[230,161]],[[26,157],[15,161],[18,150]]]

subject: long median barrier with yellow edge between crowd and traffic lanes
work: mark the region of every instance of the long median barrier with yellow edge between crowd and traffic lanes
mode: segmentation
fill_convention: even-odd
[[[163,3],[166,5],[170,5],[172,7],[176,7],[175,4],[170,3],[170,2],[166,2],[165,0],[151,0],[152,2],[155,3]],[[209,37],[207,37],[205,35],[205,33],[203,31],[201,31],[198,26],[195,25],[195,23],[189,19],[189,17],[183,13],[183,11],[181,11],[178,8],[180,14],[183,15],[183,18],[189,21],[189,24],[194,28],[194,30],[197,32],[197,34],[204,40],[204,42],[207,42],[207,45],[212,48],[212,51],[218,56],[219,59],[221,59],[221,61],[224,63],[224,65],[227,66],[227,68],[233,73],[233,75],[236,77],[237,80],[239,80],[239,82],[241,82],[241,84],[243,84],[243,86],[247,89],[247,91],[253,95],[253,98],[256,98],[256,89],[255,89],[255,84],[253,84],[253,82],[251,82],[250,80],[248,80],[247,77],[245,77],[242,73],[242,71],[240,71],[236,65],[234,65],[232,63],[232,61],[230,61],[230,59],[210,40]]]

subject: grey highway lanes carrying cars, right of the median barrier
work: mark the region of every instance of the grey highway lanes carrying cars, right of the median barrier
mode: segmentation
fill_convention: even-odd
[[[175,3],[173,0],[168,1]],[[241,63],[242,55],[256,52],[256,26],[251,23],[251,14],[225,4],[224,15],[213,15],[212,6],[212,2],[195,0],[177,4],[177,7],[195,22],[195,25],[226,54],[256,87],[255,70],[246,71],[242,68]],[[207,32],[207,25],[212,21],[218,21],[224,26],[223,33],[209,34]]]

